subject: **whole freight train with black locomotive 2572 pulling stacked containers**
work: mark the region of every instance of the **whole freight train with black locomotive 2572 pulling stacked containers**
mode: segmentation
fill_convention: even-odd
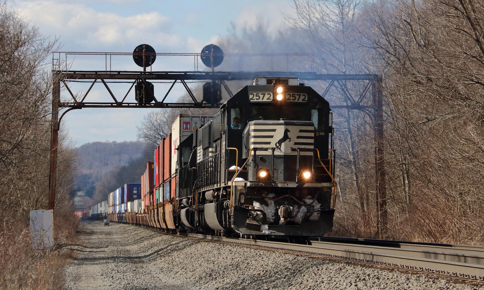
[[[333,228],[333,136],[329,102],[313,88],[258,77],[213,116],[178,116],[135,184],[139,199],[126,184],[84,216],[173,232],[322,236]]]

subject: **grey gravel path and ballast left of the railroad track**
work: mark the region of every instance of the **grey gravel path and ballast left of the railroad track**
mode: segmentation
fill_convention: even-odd
[[[71,246],[65,289],[465,289],[484,290],[424,275],[333,263],[165,235],[152,229],[83,222]]]

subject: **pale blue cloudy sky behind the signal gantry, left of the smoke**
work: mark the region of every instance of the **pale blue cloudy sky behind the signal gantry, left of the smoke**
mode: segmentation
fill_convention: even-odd
[[[59,51],[129,53],[136,45],[147,43],[157,53],[199,53],[203,46],[217,44],[220,37],[226,36],[232,23],[240,27],[265,20],[270,29],[280,28],[284,25],[283,13],[290,10],[291,1],[9,0],[7,4],[38,27],[44,36],[59,39]],[[61,54],[61,58],[65,56]],[[106,67],[105,56],[68,54],[67,63],[72,70],[104,70]],[[112,70],[141,70],[130,56],[112,57],[107,62],[109,64]],[[158,57],[152,66],[153,71],[193,69],[193,58],[187,57]],[[85,92],[89,88],[86,84],[68,85],[73,93]],[[123,97],[129,85],[113,84],[110,88],[116,96]],[[175,86],[168,97],[171,100],[166,101],[174,102],[182,93],[184,89]],[[68,95],[69,92],[63,89],[61,98]],[[128,101],[129,98],[134,102],[133,91],[128,95]],[[86,102],[109,100],[112,101],[102,84],[94,85],[86,98]],[[73,110],[62,118],[61,126],[77,145],[136,140],[136,126],[147,110],[152,109]]]

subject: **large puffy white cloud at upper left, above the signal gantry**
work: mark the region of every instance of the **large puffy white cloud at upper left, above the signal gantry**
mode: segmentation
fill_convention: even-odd
[[[172,33],[169,18],[158,12],[121,16],[99,13],[83,4],[56,1],[21,2],[19,13],[51,35],[61,35],[63,43],[75,43],[91,50],[133,43],[175,47],[183,43]],[[133,48],[131,48],[133,49]]]

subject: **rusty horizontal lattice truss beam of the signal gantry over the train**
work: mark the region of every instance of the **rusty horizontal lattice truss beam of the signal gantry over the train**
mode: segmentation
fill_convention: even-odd
[[[227,86],[227,81],[235,80],[253,80],[258,76],[272,76],[272,77],[299,77],[305,81],[326,81],[329,82],[321,94],[324,97],[330,92],[333,87],[336,87],[339,93],[343,93],[345,102],[341,104],[332,105],[333,108],[349,108],[367,111],[374,108],[373,103],[364,104],[363,100],[371,87],[375,86],[378,80],[378,75],[375,74],[318,74],[318,73],[301,73],[301,72],[72,72],[72,71],[54,71],[54,80],[61,82],[63,87],[67,90],[70,98],[59,103],[59,108],[106,108],[106,107],[130,107],[130,108],[167,108],[167,107],[194,107],[194,108],[218,108],[220,103],[208,103],[205,99],[196,97],[187,81],[217,81],[229,96],[233,95],[230,88]],[[154,97],[154,102],[149,104],[138,104],[137,102],[127,102],[127,98],[136,83],[142,82],[146,87],[148,81],[170,82],[171,86],[166,92],[161,93],[163,98],[158,100]],[[348,81],[366,81],[361,89],[358,97],[354,97],[348,89]],[[86,83],[90,84],[89,88],[83,94],[75,94],[69,87],[69,83]],[[113,102],[90,102],[89,93],[96,83],[102,83],[106,88],[106,94],[112,98]],[[115,96],[110,86],[117,83],[131,84],[125,94]],[[190,97],[190,102],[166,102],[166,98],[170,94],[172,88],[176,84],[181,84]],[[154,95],[154,94],[153,94]],[[200,100],[200,101],[199,101]]]

